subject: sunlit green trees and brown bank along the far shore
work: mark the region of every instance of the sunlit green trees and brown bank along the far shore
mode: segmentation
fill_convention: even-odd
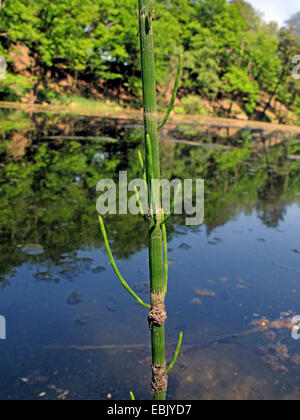
[[[7,0],[0,11],[0,55],[8,65],[0,100],[81,97],[139,107],[135,8],[136,0]],[[292,59],[300,53],[299,14],[280,29],[242,0],[158,0],[153,19],[161,108],[183,51],[175,112],[297,122],[300,80],[292,78]]]

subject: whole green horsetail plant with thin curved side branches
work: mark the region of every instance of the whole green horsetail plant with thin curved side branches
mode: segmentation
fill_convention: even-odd
[[[154,400],[165,400],[167,392],[167,377],[173,368],[180,352],[182,333],[180,333],[174,358],[167,367],[165,354],[165,321],[167,313],[165,298],[168,282],[168,249],[166,221],[174,210],[178,191],[175,193],[170,213],[164,214],[159,188],[154,188],[154,182],[160,180],[159,130],[167,123],[173,110],[182,71],[180,57],[172,99],[163,121],[158,123],[156,101],[156,75],[153,40],[154,0],[138,0],[139,35],[142,65],[144,129],[145,129],[145,162],[141,153],[143,178],[148,187],[148,208],[143,209],[136,188],[136,201],[140,214],[148,223],[149,232],[149,269],[150,269],[150,304],[140,299],[121,276],[109,246],[105,226],[100,216],[100,228],[105,243],[106,252],[111,265],[127,292],[144,308],[149,309],[148,322],[151,330],[152,345],[152,395]],[[130,392],[134,400],[134,395]]]

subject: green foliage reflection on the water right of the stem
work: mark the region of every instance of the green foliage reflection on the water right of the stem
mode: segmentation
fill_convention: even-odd
[[[243,146],[225,151],[168,144],[162,150],[163,167],[167,168],[164,176],[205,179],[208,231],[240,212],[250,214],[256,207],[260,212],[261,203],[269,203],[270,210],[279,212],[273,221],[276,225],[282,218],[282,210],[295,200],[300,188],[299,164],[287,159],[297,147],[291,142],[266,148],[264,153],[253,153],[247,141]],[[269,225],[268,218],[263,221]]]

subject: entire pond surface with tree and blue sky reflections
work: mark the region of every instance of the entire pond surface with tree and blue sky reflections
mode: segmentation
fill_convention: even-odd
[[[147,313],[115,278],[95,209],[100,178],[140,176],[140,132],[132,121],[1,113],[1,399],[150,398]],[[165,136],[198,145],[162,141],[163,175],[206,185],[204,225],[168,223],[169,357],[184,332],[168,398],[298,399],[299,139]],[[120,271],[147,300],[144,222],[105,221]]]

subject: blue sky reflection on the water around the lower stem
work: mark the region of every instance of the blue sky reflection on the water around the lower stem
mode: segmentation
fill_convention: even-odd
[[[233,209],[237,216],[209,235],[205,225],[169,226],[168,355],[184,331],[169,398],[299,398],[299,366],[291,358],[300,355],[300,343],[291,339],[290,331],[275,331],[273,343],[289,350],[289,358],[277,365],[270,338],[243,335],[253,328],[253,320],[274,321],[282,312],[299,312],[300,254],[293,252],[300,248],[296,199],[299,203],[296,195],[289,196],[283,220],[273,228],[263,223],[261,207],[259,213],[247,214]],[[116,224],[115,229],[118,240],[123,227]],[[6,276],[10,284],[0,291],[8,336],[0,341],[1,399],[38,398],[44,392],[43,398],[52,399],[65,391],[74,399],[103,399],[107,394],[128,399],[130,390],[137,399],[149,398],[147,314],[122,289],[103,249],[81,248],[66,255],[58,250],[53,263],[43,248],[23,247],[24,264]],[[118,265],[147,300],[148,256],[139,249]],[[197,289],[215,297],[199,296]],[[58,348],[49,348],[53,346]]]

